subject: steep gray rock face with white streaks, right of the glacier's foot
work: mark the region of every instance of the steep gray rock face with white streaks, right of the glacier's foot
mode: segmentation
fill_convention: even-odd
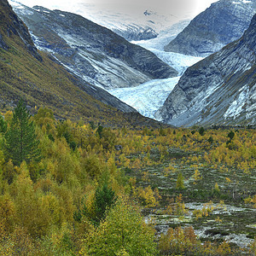
[[[172,125],[256,125],[256,15],[243,36],[189,67],[156,117]]]

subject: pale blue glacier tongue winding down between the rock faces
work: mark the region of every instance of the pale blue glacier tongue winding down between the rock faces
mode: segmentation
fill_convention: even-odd
[[[175,27],[175,26],[174,26]],[[178,27],[178,25],[176,26]],[[160,33],[157,38],[141,41],[132,41],[133,44],[138,44],[157,55],[162,61],[175,68],[179,73],[178,77],[172,79],[154,79],[146,83],[137,85],[131,88],[118,88],[108,90],[110,94],[116,96],[122,102],[135,108],[139,113],[146,117],[157,119],[154,113],[163,106],[167,96],[172,92],[181,75],[185,70],[193,66],[196,62],[201,61],[202,57],[182,55],[178,53],[165,52],[164,42],[166,38],[175,37],[175,30]],[[160,119],[158,119],[160,120]]]

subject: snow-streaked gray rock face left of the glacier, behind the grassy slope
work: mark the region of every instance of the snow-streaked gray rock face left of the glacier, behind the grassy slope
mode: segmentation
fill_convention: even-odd
[[[14,9],[29,27],[38,49],[49,51],[90,84],[130,87],[177,75],[147,49],[130,44],[82,16],[38,6]]]

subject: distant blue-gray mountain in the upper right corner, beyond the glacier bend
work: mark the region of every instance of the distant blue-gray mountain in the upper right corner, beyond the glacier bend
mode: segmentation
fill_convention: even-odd
[[[256,0],[220,0],[212,3],[183,32],[177,35],[166,51],[206,57],[223,48],[226,44],[241,38],[253,15]]]

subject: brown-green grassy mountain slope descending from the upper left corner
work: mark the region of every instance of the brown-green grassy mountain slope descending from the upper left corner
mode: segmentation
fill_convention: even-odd
[[[6,0],[0,1],[0,68],[2,110],[14,106],[22,97],[31,108],[47,106],[61,118],[110,120],[114,115],[122,118],[123,113],[116,108],[137,116],[124,102],[85,84],[39,52],[27,27]]]

